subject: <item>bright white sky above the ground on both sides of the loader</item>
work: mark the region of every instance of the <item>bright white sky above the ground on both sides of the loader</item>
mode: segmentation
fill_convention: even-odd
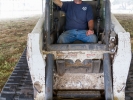
[[[0,18],[18,18],[42,14],[42,1],[0,0]],[[128,2],[127,0],[111,0],[112,13],[133,14],[133,4],[130,4],[131,1],[133,0],[128,0]]]

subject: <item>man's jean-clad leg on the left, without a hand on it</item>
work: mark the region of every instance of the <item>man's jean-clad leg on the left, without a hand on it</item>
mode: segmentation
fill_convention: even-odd
[[[75,30],[69,30],[65,31],[59,36],[57,43],[72,43],[75,40],[76,40]]]

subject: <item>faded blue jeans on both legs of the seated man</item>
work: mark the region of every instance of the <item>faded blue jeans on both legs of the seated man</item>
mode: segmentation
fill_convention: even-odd
[[[86,31],[87,30],[77,30],[77,29],[65,31],[59,36],[57,43],[72,43],[76,40],[80,40],[84,43],[89,43],[89,42],[96,43],[97,42],[96,35],[92,34],[87,36]]]

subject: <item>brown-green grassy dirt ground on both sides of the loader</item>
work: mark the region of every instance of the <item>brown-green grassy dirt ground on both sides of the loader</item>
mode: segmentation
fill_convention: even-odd
[[[133,37],[133,15],[115,16]],[[0,92],[26,47],[27,34],[32,31],[39,17],[0,20]]]

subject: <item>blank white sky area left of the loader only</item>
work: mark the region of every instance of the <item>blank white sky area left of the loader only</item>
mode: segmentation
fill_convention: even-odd
[[[42,13],[42,0],[0,0],[0,18],[18,18]]]

